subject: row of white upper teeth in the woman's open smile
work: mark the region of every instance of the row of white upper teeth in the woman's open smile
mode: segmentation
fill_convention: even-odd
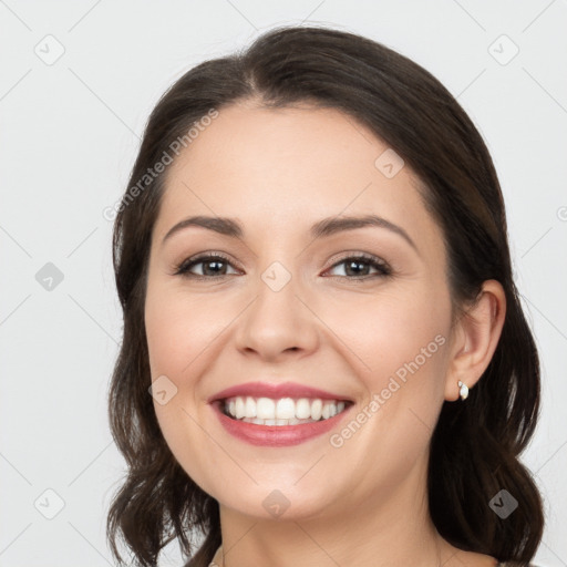
[[[237,395],[225,400],[225,412],[229,416],[257,425],[297,425],[328,420],[344,411],[346,406],[346,402],[319,398],[272,400]]]

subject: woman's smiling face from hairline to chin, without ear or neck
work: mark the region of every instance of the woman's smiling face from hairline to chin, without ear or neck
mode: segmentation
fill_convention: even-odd
[[[155,411],[183,468],[255,517],[344,514],[394,491],[414,502],[445,399],[451,301],[409,166],[338,110],[239,105],[168,167],[145,326]],[[194,216],[210,227],[179,225]],[[370,216],[383,220],[343,225]],[[227,396],[248,422],[224,415]]]

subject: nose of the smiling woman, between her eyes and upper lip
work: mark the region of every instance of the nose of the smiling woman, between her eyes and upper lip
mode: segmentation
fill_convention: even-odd
[[[281,278],[281,270],[266,270],[256,287],[256,298],[238,320],[237,348],[247,357],[278,362],[290,355],[302,358],[317,349],[318,318],[301,297],[305,293],[296,279],[291,277],[280,288],[289,276]]]

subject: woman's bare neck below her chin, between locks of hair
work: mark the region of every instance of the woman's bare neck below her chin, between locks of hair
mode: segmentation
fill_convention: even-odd
[[[424,465],[395,489],[359,502],[337,501],[317,517],[267,520],[220,505],[224,567],[446,567],[452,554],[429,514]]]

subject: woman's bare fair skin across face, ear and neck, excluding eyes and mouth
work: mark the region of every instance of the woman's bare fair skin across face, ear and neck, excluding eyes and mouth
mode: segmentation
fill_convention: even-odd
[[[504,292],[485,282],[475,309],[451,327],[441,229],[409,166],[392,178],[377,168],[386,148],[338,110],[247,102],[223,109],[167,172],[145,324],[152,380],[166,375],[177,393],[154,405],[173,454],[220,505],[228,567],[431,567],[440,555],[444,566],[496,564],[439,536],[426,470],[443,402],[466,403],[457,381],[473,388],[488,365]],[[416,250],[385,228],[308,235],[323,217],[368,214],[402,227]],[[187,227],[163,241],[193,215],[236,218],[244,237]],[[204,271],[210,261],[192,268],[208,279],[175,275],[209,251],[229,258],[224,276]],[[360,252],[391,276],[364,264],[367,279],[355,281],[340,260]],[[275,261],[291,276],[277,292],[261,279]],[[444,344],[340,447],[329,439],[346,423],[299,445],[254,446],[225,432],[207,403],[235,384],[295,381],[354,400],[355,416],[437,336]],[[262,506],[275,489],[290,503],[278,518]]]

